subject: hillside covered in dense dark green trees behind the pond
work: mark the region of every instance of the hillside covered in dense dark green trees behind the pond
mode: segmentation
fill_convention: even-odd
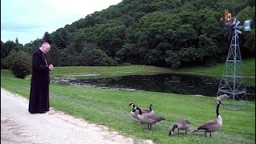
[[[2,60],[11,50],[29,54],[49,42],[54,66],[168,66],[224,62],[230,40],[222,33],[224,11],[241,23],[255,22],[254,0],[122,0],[24,46],[1,41]],[[254,23],[255,26],[255,23]],[[242,57],[254,57],[255,29],[239,37]]]

